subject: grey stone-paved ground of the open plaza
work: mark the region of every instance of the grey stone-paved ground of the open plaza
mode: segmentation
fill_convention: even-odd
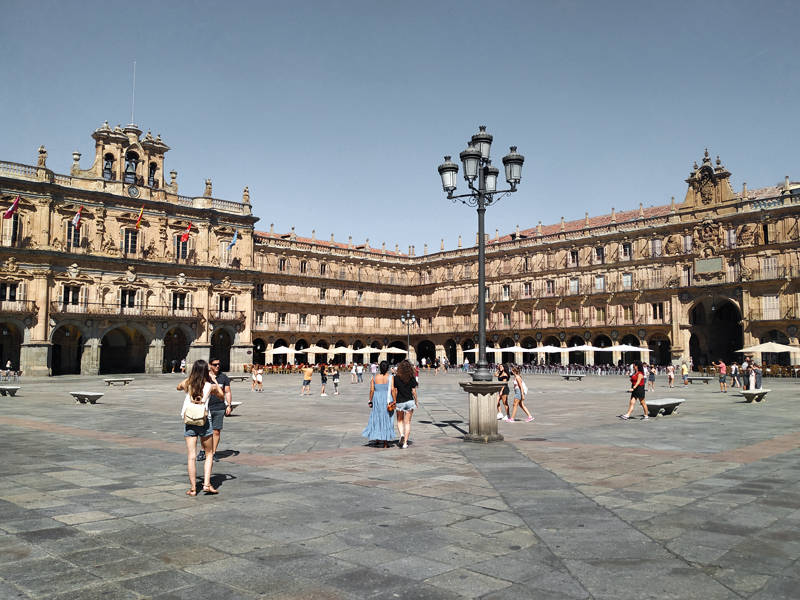
[[[463,374],[423,373],[411,445],[384,450],[368,383],[273,375],[233,384],[220,494],[192,498],[180,376],[134,377],[0,398],[0,599],[800,597],[800,380],[746,404],[659,379],[686,403],[626,422],[625,378],[528,375],[536,420],[477,445]]]

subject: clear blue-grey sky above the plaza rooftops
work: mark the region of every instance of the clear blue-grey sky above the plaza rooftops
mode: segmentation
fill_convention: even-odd
[[[451,249],[477,217],[436,167],[479,125],[526,159],[492,234],[680,202],[706,147],[737,190],[800,179],[799,26],[795,1],[5,0],[0,160],[87,168],[136,61],[181,194],[248,185],[260,229]]]

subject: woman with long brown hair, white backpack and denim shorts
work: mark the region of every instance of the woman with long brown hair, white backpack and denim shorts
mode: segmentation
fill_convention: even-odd
[[[186,440],[187,450],[187,469],[189,471],[189,484],[192,486],[187,496],[197,495],[197,438],[205,452],[213,452],[213,429],[211,420],[208,418],[208,402],[212,395],[216,398],[224,398],[225,393],[216,380],[216,375],[211,373],[208,363],[198,360],[192,365],[192,372],[189,377],[178,384],[179,391],[186,392],[181,409],[181,418],[184,420],[183,437]],[[202,423],[194,425],[186,422],[186,411],[191,405],[203,406]],[[217,490],[211,485],[211,469],[213,461],[207,460],[203,473],[203,491],[208,494],[216,494]]]

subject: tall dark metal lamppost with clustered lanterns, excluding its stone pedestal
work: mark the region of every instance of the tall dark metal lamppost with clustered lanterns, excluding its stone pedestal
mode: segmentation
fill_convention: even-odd
[[[507,190],[497,189],[497,176],[500,170],[492,166],[489,152],[492,147],[491,134],[486,133],[486,127],[481,126],[480,132],[472,136],[467,149],[459,157],[464,165],[464,179],[469,186],[469,193],[454,196],[458,165],[445,156],[445,162],[439,165],[439,175],[442,177],[442,187],[447,192],[447,198],[456,202],[460,200],[468,206],[478,208],[478,362],[473,381],[492,381],[489,363],[486,361],[486,240],[484,235],[484,214],[486,207],[491,206],[505,195],[517,191],[522,178],[522,163],[525,157],[517,153],[517,147],[511,146],[511,152],[503,157],[506,181],[511,186]],[[477,187],[475,186],[477,180]]]

